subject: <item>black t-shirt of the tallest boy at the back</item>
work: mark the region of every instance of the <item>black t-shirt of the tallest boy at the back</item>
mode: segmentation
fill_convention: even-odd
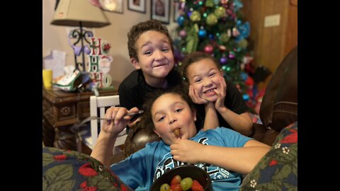
[[[176,70],[171,70],[166,76],[169,88],[181,83],[181,74]],[[149,86],[145,81],[145,77],[141,69],[132,71],[126,77],[118,88],[120,106],[130,110],[133,107],[142,108],[145,103],[147,93],[156,91],[160,88]]]

